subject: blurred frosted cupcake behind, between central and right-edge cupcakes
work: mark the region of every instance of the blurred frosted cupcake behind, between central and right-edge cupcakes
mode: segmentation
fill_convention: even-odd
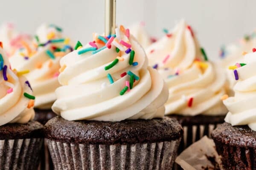
[[[157,69],[169,88],[165,115],[184,128],[180,152],[202,136],[210,136],[224,122],[222,104],[225,75],[210,62],[185,21],[147,48],[149,64]]]

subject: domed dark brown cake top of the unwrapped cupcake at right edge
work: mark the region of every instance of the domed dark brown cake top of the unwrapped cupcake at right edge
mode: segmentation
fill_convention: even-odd
[[[223,123],[213,130],[212,138],[232,146],[256,148],[256,131],[251,130],[247,125],[232,126],[229,123]]]

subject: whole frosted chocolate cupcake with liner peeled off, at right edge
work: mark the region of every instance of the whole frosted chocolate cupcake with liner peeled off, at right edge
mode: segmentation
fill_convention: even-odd
[[[256,168],[256,51],[244,56],[244,65],[233,65],[234,97],[225,99],[229,113],[212,132],[212,139],[227,170]]]

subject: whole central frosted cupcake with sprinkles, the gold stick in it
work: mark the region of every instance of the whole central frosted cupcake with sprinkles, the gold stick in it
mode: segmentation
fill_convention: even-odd
[[[163,119],[168,89],[141,45],[116,28],[61,59],[61,87],[45,125],[55,169],[172,169],[183,134]]]

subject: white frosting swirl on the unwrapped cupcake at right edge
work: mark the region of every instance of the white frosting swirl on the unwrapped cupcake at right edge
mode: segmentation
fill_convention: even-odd
[[[245,55],[244,63],[247,65],[236,69],[239,79],[233,88],[235,96],[223,101],[229,110],[225,121],[256,131],[256,53]]]

